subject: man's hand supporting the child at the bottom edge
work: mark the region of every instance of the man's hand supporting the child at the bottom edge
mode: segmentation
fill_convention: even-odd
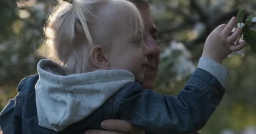
[[[88,130],[85,134],[145,134],[124,120],[105,120],[101,122],[101,127],[106,130]]]

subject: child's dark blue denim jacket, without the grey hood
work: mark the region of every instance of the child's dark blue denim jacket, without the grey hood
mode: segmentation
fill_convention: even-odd
[[[88,129],[101,129],[105,119],[123,119],[156,134],[187,134],[205,125],[225,92],[219,80],[201,68],[197,68],[177,97],[144,90],[141,83],[132,82],[87,118],[55,132],[38,125],[38,78],[33,75],[21,80],[18,95],[1,112],[0,127],[4,134],[83,134]]]

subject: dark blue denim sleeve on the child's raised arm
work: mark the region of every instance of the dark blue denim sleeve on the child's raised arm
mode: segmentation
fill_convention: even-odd
[[[177,97],[141,86],[120,90],[113,101],[119,118],[156,134],[187,134],[203,128],[219,105],[225,89],[209,72],[197,68]]]

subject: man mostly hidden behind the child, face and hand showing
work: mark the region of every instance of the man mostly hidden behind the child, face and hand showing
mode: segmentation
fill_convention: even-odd
[[[147,57],[148,64],[145,70],[144,80],[142,87],[145,89],[153,89],[154,82],[157,75],[157,68],[159,64],[159,54],[161,52],[158,46],[157,40],[157,28],[150,15],[149,4],[146,0],[129,0],[139,9],[141,16],[144,21],[146,36],[144,43],[151,49],[151,54]],[[101,127],[105,130],[90,130],[86,131],[85,134],[144,134],[136,126],[123,120],[105,120],[101,123]],[[147,132],[146,132],[147,134]],[[199,133],[194,133],[199,134]]]

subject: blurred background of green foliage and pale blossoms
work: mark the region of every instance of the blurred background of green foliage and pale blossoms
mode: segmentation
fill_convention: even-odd
[[[149,0],[162,48],[156,92],[177,95],[195,70],[208,34],[245,8],[256,14],[256,0]],[[0,0],[0,111],[19,81],[36,73],[47,54],[45,19],[56,0]],[[224,60],[230,71],[226,94],[202,134],[256,134],[256,54]]]

